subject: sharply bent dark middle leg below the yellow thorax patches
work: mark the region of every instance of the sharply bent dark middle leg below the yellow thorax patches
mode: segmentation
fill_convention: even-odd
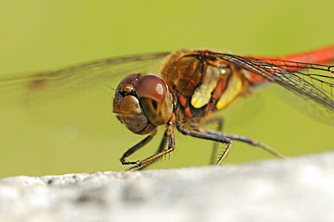
[[[229,153],[229,150],[232,147],[232,141],[229,138],[219,134],[219,132],[216,132],[216,131],[206,132],[205,130],[202,130],[202,129],[189,130],[189,129],[182,128],[181,125],[178,125],[178,130],[181,132],[181,134],[190,135],[192,137],[196,137],[199,139],[210,140],[216,143],[227,144],[227,148],[218,157],[218,161],[215,162],[216,165],[219,165],[221,162],[224,161],[224,159],[227,157],[227,154]]]

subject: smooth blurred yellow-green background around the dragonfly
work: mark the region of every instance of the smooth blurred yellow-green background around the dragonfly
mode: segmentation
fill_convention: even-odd
[[[180,49],[268,56],[308,51],[334,43],[333,8],[332,0],[3,1],[0,75]],[[288,156],[333,148],[333,129],[328,125],[303,116],[274,95],[264,95],[256,103],[262,106],[256,115],[243,116],[237,125],[228,124],[226,116],[224,130],[252,136]],[[0,177],[122,171],[125,167],[118,159],[142,139],[122,127],[117,136],[99,135],[96,126],[92,134],[69,136],[53,126],[57,120],[41,120],[24,106],[4,109],[0,110]],[[107,111],[96,115],[103,121]],[[111,108],[110,116],[115,117]],[[176,136],[177,152],[152,169],[208,163],[211,143]],[[153,153],[159,142],[158,135],[130,160]],[[271,157],[236,142],[226,162]]]

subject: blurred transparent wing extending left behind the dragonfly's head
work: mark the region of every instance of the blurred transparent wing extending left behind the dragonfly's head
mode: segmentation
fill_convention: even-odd
[[[65,69],[0,76],[1,112],[27,112],[32,121],[110,131],[112,99],[126,75],[159,70],[168,53],[97,60]],[[157,69],[155,69],[157,68]],[[90,133],[89,133],[90,134]]]

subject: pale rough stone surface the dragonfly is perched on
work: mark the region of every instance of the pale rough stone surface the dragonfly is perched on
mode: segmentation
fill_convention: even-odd
[[[3,178],[0,221],[334,221],[334,153]]]

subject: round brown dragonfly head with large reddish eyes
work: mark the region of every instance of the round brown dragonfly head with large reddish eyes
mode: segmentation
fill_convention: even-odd
[[[150,134],[172,116],[172,94],[162,79],[132,74],[116,88],[114,113],[135,134]]]

